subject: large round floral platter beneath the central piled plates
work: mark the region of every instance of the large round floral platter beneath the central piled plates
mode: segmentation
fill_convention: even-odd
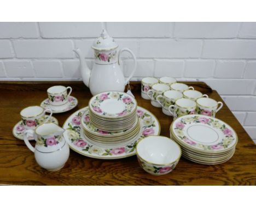
[[[151,112],[147,111],[147,109],[138,106],[137,115],[139,117],[141,130],[135,138],[131,139],[126,144],[115,147],[103,144],[101,146],[92,144],[84,136],[81,125],[81,117],[86,108],[87,107],[82,108],[73,113],[63,124],[63,129],[67,130],[63,136],[69,144],[69,147],[81,155],[107,160],[130,157],[136,155],[135,148],[139,139],[160,134],[160,123],[158,119]],[[150,117],[150,121],[145,119]]]

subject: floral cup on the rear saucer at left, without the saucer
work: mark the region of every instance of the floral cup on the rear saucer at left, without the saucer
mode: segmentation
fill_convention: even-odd
[[[67,94],[67,90],[69,93]],[[51,106],[63,106],[68,102],[68,97],[72,92],[71,87],[56,85],[47,89],[49,103]]]

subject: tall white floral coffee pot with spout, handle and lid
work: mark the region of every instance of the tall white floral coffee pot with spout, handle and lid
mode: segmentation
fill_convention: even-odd
[[[84,54],[79,48],[75,50],[80,59],[80,70],[84,84],[90,88],[91,94],[96,95],[103,91],[124,91],[125,85],[133,76],[137,62],[135,55],[129,48],[121,48],[117,52],[118,44],[111,38],[105,29],[102,30],[92,44],[94,49],[94,65],[90,70],[84,60]],[[134,65],[128,78],[124,77],[123,69],[120,66],[120,57],[122,52],[129,52],[132,56]]]

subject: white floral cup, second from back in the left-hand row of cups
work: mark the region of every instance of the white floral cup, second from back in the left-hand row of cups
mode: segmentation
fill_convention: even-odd
[[[152,89],[148,90],[148,97],[151,99],[152,106],[161,108],[162,106],[156,100],[158,95],[163,95],[165,91],[170,90],[167,84],[154,84]]]

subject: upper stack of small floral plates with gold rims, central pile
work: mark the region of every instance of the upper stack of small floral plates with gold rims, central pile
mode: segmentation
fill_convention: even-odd
[[[124,92],[107,91],[89,101],[90,123],[103,131],[125,131],[138,123],[136,100]]]

